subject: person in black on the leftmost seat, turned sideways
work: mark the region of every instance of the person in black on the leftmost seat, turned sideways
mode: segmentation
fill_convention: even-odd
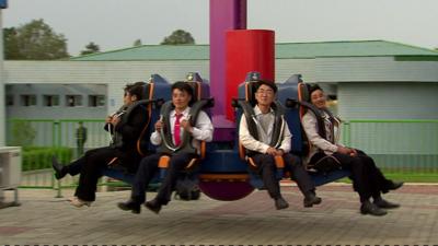
[[[113,141],[110,147],[87,151],[85,154],[67,166],[54,159],[53,166],[59,179],[67,173],[80,172],[79,186],[71,204],[74,207],[90,206],[95,200],[97,179],[101,168],[114,160],[128,172],[135,173],[141,155],[137,151],[137,139],[148,122],[148,112],[142,105],[130,107],[142,96],[142,84],[127,84],[125,87],[124,107],[118,114],[106,119],[105,129],[113,131]]]

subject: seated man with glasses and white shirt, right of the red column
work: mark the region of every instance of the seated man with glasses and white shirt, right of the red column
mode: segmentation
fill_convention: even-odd
[[[256,85],[254,114],[256,120],[247,122],[243,115],[240,121],[239,139],[243,147],[250,151],[249,156],[253,159],[257,166],[257,172],[262,175],[263,183],[275,200],[275,207],[286,209],[288,202],[281,197],[279,183],[276,178],[275,156],[283,156],[285,168],[290,171],[299,189],[304,195],[304,207],[312,207],[321,203],[321,198],[315,196],[315,187],[310,179],[299,157],[289,153],[291,144],[291,133],[286,121],[280,126],[275,126],[273,102],[276,97],[277,86],[273,82],[258,81]],[[281,119],[284,120],[284,119]],[[249,124],[256,127],[256,132],[251,132]],[[283,127],[275,131],[274,127]],[[254,128],[253,128],[254,129]],[[278,132],[278,136],[274,136]],[[256,137],[255,137],[256,136]],[[273,141],[274,140],[274,141]],[[275,142],[277,143],[273,143]]]

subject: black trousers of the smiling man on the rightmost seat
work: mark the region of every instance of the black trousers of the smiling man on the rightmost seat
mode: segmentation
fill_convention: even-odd
[[[357,156],[334,153],[333,156],[341,162],[343,169],[351,172],[353,188],[359,194],[360,201],[369,198],[378,198],[381,192],[388,192],[388,187],[392,184],[387,179],[374,161],[364,151],[356,150]],[[321,155],[322,156],[322,155]],[[312,157],[311,162],[318,162]]]

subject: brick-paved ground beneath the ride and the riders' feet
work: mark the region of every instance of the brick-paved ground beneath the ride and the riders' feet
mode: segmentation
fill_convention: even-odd
[[[405,185],[385,196],[402,203],[383,218],[361,215],[350,186],[319,187],[323,203],[304,209],[296,187],[277,211],[265,191],[238,201],[173,201],[159,215],[116,208],[129,191],[100,192],[76,209],[54,190],[20,191],[0,210],[0,244],[20,245],[437,245],[438,185]],[[68,190],[65,195],[71,195]],[[8,195],[8,194],[7,194]],[[8,195],[11,196],[11,195]],[[149,196],[151,197],[151,196]]]

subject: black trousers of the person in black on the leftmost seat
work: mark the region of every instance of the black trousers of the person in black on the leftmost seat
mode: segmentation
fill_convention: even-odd
[[[84,201],[94,201],[101,169],[114,159],[120,159],[120,164],[128,172],[135,173],[139,163],[137,153],[123,152],[112,147],[103,147],[87,151],[85,154],[68,165],[68,173],[76,175],[80,173],[79,185],[74,196]]]

